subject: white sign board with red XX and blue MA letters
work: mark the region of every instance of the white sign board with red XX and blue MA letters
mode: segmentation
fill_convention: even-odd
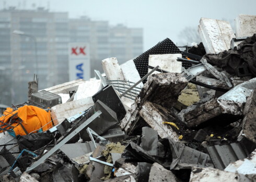
[[[90,53],[86,43],[69,43],[69,81],[90,79]]]

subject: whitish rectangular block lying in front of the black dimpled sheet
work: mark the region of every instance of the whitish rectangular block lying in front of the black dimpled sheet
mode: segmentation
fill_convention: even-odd
[[[162,54],[162,55],[149,55],[148,65],[152,67],[159,66],[159,69],[168,71],[170,73],[181,73],[182,62],[177,61],[177,58],[182,58],[181,54]],[[148,72],[151,69],[148,69]],[[153,74],[158,74],[154,71]]]

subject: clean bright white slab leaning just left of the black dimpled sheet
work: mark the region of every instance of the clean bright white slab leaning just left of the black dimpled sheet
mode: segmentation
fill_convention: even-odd
[[[121,70],[126,81],[136,83],[139,80],[141,80],[141,76],[139,76],[136,66],[132,59],[123,63],[121,65]],[[139,83],[137,87],[142,88],[143,83]]]

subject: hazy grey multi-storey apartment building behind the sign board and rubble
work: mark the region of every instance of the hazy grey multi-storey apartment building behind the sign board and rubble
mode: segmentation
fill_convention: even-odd
[[[18,30],[23,34],[15,34]],[[117,57],[119,63],[143,52],[143,30],[87,17],[69,19],[67,12],[44,8],[0,10],[0,103],[27,101],[28,82],[39,77],[39,89],[68,82],[68,43],[88,43],[91,76],[103,71],[101,60]]]

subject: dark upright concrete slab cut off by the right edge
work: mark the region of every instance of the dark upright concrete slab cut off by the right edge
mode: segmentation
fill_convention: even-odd
[[[250,97],[247,98],[245,109],[243,110],[242,131],[246,138],[256,142],[256,89],[253,90]]]

